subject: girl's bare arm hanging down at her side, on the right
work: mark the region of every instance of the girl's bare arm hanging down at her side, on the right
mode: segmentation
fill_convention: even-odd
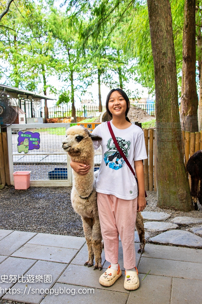
[[[142,161],[134,161],[135,173],[138,181],[137,212],[143,211],[146,207],[144,193],[144,166]]]

